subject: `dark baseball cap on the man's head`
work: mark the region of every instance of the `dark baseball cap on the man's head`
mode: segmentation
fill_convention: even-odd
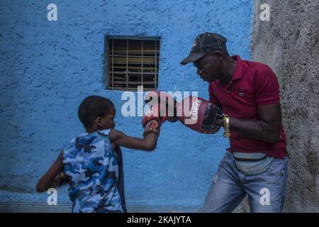
[[[181,65],[195,62],[206,55],[207,52],[213,50],[226,50],[226,42],[227,38],[216,33],[206,32],[198,35],[191,46],[191,52],[181,61]]]

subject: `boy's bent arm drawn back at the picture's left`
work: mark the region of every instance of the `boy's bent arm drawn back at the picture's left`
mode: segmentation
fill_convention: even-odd
[[[37,184],[37,191],[38,192],[44,192],[45,190],[49,189],[50,187],[57,187],[59,184],[55,182],[55,179],[57,179],[57,175],[59,172],[63,170],[63,151],[61,151],[59,157],[57,157],[57,160],[53,163],[53,165],[50,167],[49,170],[41,177]]]

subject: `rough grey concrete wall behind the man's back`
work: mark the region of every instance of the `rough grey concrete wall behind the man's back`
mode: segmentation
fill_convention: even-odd
[[[261,4],[270,20],[261,21]],[[319,212],[319,1],[255,1],[252,60],[268,64],[281,89],[290,153],[286,212]]]

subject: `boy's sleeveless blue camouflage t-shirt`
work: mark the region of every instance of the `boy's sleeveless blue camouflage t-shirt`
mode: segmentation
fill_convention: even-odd
[[[111,147],[109,132],[83,133],[64,149],[72,212],[125,211],[118,192],[118,155]]]

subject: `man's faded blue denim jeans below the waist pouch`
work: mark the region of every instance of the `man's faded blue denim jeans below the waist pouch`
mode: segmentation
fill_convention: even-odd
[[[201,212],[231,212],[248,196],[251,212],[281,212],[284,205],[288,157],[275,158],[259,175],[244,175],[227,152],[220,161]]]

